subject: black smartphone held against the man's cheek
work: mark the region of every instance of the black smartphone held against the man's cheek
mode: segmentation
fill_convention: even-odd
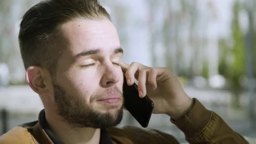
[[[154,109],[154,103],[147,95],[144,98],[140,98],[138,94],[138,86],[135,83],[131,86],[127,85],[125,74],[123,95],[125,108],[142,127],[148,127],[148,122]]]

